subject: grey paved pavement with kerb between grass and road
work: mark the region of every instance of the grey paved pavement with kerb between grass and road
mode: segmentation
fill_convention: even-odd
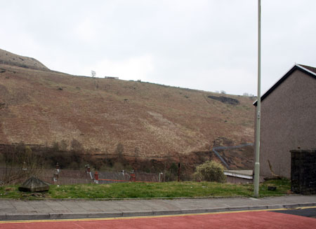
[[[316,195],[129,200],[0,199],[0,221],[197,214],[316,206]]]

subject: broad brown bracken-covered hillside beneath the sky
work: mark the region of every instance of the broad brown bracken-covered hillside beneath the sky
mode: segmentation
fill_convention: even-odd
[[[0,50],[0,144],[63,141],[70,150],[76,139],[94,155],[184,156],[209,151],[218,139],[231,145],[252,142],[252,102],[152,83],[71,76]]]

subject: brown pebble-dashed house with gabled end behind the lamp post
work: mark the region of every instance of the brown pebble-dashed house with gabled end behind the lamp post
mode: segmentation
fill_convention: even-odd
[[[260,176],[290,179],[299,148],[316,148],[316,68],[295,64],[261,96]]]

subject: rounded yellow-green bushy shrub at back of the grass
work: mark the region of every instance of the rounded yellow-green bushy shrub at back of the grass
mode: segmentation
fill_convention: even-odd
[[[224,167],[220,163],[208,160],[202,165],[198,165],[196,168],[197,172],[193,175],[196,180],[199,181],[216,181],[223,183],[226,181],[224,175]]]

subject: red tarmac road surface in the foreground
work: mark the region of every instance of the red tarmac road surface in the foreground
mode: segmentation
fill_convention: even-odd
[[[1,229],[9,228],[316,228],[316,218],[294,216],[271,211],[246,211],[180,216],[143,216],[129,218],[98,218],[58,221],[0,221]]]

